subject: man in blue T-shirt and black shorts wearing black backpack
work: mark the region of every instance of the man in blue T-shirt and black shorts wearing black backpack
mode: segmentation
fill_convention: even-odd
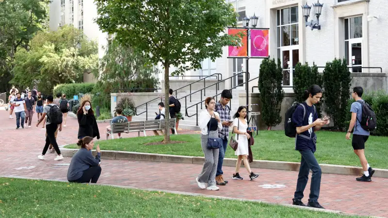
[[[369,166],[365,157],[365,142],[369,138],[370,130],[376,127],[376,114],[373,112],[371,106],[361,99],[364,90],[361,86],[353,88],[352,98],[356,101],[352,103],[350,112],[352,112],[352,119],[349,123],[348,133],[346,139],[350,139],[350,134],[354,128],[352,147],[362,166],[364,174],[356,178],[358,182],[371,182],[374,170]]]

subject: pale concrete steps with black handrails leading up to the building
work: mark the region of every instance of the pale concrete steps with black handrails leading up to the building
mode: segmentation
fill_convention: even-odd
[[[192,91],[192,93],[195,91]],[[217,94],[221,93],[222,90],[217,91]],[[239,93],[240,92],[245,92],[245,90],[233,90],[232,95],[233,99],[231,100],[231,113],[230,116],[233,117],[234,113],[237,111],[239,108]],[[178,100],[180,101],[181,104],[181,113],[183,115],[184,120],[179,120],[179,129],[189,129],[189,130],[200,130],[198,126],[196,126],[196,119],[197,116],[194,115],[196,113],[196,106],[193,106],[187,110],[188,116],[192,117],[187,117],[185,115],[186,113],[186,102],[185,98],[182,98],[184,96],[187,96],[190,94],[190,91],[185,91],[185,92],[180,92],[178,93]],[[200,92],[195,93],[192,95],[192,101],[190,102],[190,97],[187,97],[187,107],[190,107],[198,102],[201,101],[201,96]],[[202,93],[203,95],[203,93]],[[207,97],[209,96],[214,96],[216,95],[215,90],[207,90],[206,91],[206,96],[202,96],[202,101],[204,101]],[[221,95],[218,96],[218,101],[220,100]],[[148,107],[148,120],[155,119],[155,112],[159,113],[158,110],[158,103],[160,100],[156,100],[154,102],[151,102],[147,105]],[[205,110],[205,105],[202,103],[202,109],[201,109],[201,104],[198,104],[198,114],[201,113],[202,110]],[[144,107],[138,109],[138,113],[142,113],[143,111],[146,111],[146,105]],[[194,116],[193,116],[194,115]],[[231,118],[232,119],[232,118]],[[133,121],[142,121],[146,120],[146,113],[141,114],[140,116],[135,116],[132,117]]]

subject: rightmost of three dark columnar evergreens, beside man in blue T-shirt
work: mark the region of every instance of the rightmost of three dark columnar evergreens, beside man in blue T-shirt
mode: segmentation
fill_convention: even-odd
[[[347,128],[346,115],[349,113],[347,104],[351,80],[345,59],[334,59],[326,63],[323,70],[325,111],[333,118],[334,127],[339,130]]]

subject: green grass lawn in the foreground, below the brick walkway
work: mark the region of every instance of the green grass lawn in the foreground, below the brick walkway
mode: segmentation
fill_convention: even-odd
[[[110,186],[0,178],[4,218],[337,218],[336,214]]]

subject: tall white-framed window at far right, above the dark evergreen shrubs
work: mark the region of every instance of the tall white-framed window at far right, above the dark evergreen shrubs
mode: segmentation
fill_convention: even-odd
[[[362,72],[362,17],[344,19],[345,57],[352,72]]]

